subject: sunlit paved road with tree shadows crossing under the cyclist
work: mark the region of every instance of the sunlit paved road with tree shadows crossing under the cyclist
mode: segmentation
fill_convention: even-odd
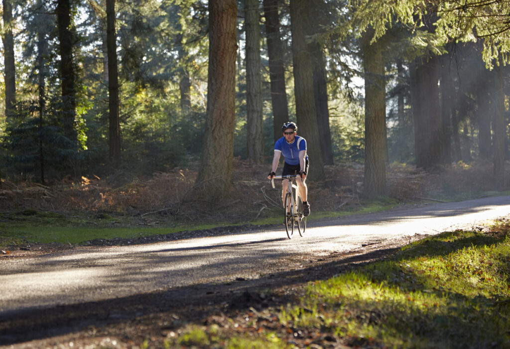
[[[258,278],[296,255],[316,258],[362,244],[475,227],[510,213],[510,196],[441,203],[311,221],[304,237],[282,228],[128,247],[78,247],[32,258],[0,259],[0,318],[39,307],[114,299],[236,278]]]

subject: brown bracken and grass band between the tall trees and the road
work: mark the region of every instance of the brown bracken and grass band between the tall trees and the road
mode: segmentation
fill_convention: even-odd
[[[387,171],[389,197],[379,200],[361,198],[363,166],[327,166],[324,182],[308,183],[312,206],[309,219],[414,205],[424,199],[488,195],[492,167],[486,165],[461,163],[441,173],[427,174],[411,166],[392,164]],[[0,247],[16,245],[18,239],[77,244],[98,238],[97,233],[104,234],[103,238],[132,238],[198,230],[203,225],[279,224],[281,189],[269,184],[267,167],[236,158],[232,192],[218,202],[207,203],[192,195],[196,179],[193,168],[158,172],[135,180],[130,175],[126,182],[119,181],[118,175],[82,177],[78,181],[65,178],[51,186],[31,180],[3,180]],[[72,227],[74,231],[60,233],[57,227]]]

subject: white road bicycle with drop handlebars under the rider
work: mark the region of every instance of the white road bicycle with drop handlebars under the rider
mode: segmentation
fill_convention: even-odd
[[[303,200],[299,195],[299,189],[294,184],[294,179],[299,175],[287,175],[287,176],[273,176],[271,178],[271,185],[274,188],[274,179],[288,179],[289,185],[287,186],[287,193],[284,199],[284,215],[285,215],[285,230],[287,236],[291,239],[294,234],[294,226],[297,223],[297,230],[300,236],[304,236],[304,231],[307,229],[307,217],[303,213]],[[294,192],[296,195],[294,195]]]

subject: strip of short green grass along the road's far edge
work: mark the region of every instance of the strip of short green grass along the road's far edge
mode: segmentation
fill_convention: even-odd
[[[390,209],[396,200],[374,200],[356,211],[317,211],[309,219],[337,218],[349,214],[367,213]],[[79,245],[94,239],[137,238],[164,235],[185,230],[212,229],[218,226],[281,224],[282,210],[273,209],[271,217],[250,222],[216,222],[200,225],[161,224],[157,227],[140,226],[133,217],[114,217],[107,213],[69,213],[26,209],[0,214],[0,248],[35,243],[60,243]]]

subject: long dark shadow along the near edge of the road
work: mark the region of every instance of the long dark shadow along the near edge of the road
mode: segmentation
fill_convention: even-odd
[[[168,329],[172,326],[180,327],[188,321],[206,318],[214,312],[249,307],[260,309],[274,306],[274,302],[286,304],[291,300],[285,297],[276,300],[271,297],[262,299],[259,290],[327,279],[349,269],[353,263],[373,261],[396,250],[392,248],[348,255],[334,262],[282,271],[252,280],[239,279],[222,284],[203,283],[99,302],[5,312],[0,314],[0,343],[16,344],[87,329],[93,329],[94,336],[97,336],[105,326],[127,326],[136,319],[142,321],[144,317],[155,314],[162,315],[165,321],[178,319],[173,321],[173,325],[167,324]]]

